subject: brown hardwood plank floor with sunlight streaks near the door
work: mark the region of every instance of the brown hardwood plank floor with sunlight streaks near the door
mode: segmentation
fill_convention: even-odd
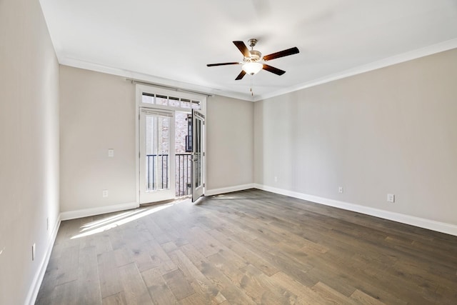
[[[457,304],[457,236],[253,189],[62,221],[36,304]]]

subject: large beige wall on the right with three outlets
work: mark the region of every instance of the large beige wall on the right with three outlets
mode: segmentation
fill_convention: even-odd
[[[456,80],[454,49],[257,102],[256,183],[456,225]]]

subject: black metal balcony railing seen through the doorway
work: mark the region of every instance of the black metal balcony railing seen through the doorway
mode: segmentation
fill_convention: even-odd
[[[146,155],[146,182],[150,191],[169,189],[168,164],[168,154]],[[176,197],[190,195],[192,173],[191,154],[176,154],[175,166]]]

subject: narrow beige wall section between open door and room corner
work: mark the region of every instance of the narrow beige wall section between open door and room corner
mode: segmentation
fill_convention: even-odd
[[[253,183],[253,103],[209,97],[206,119],[206,189]]]

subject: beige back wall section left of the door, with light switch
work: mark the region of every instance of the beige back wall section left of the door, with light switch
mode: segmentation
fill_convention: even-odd
[[[135,85],[69,66],[60,85],[61,212],[135,202]]]

